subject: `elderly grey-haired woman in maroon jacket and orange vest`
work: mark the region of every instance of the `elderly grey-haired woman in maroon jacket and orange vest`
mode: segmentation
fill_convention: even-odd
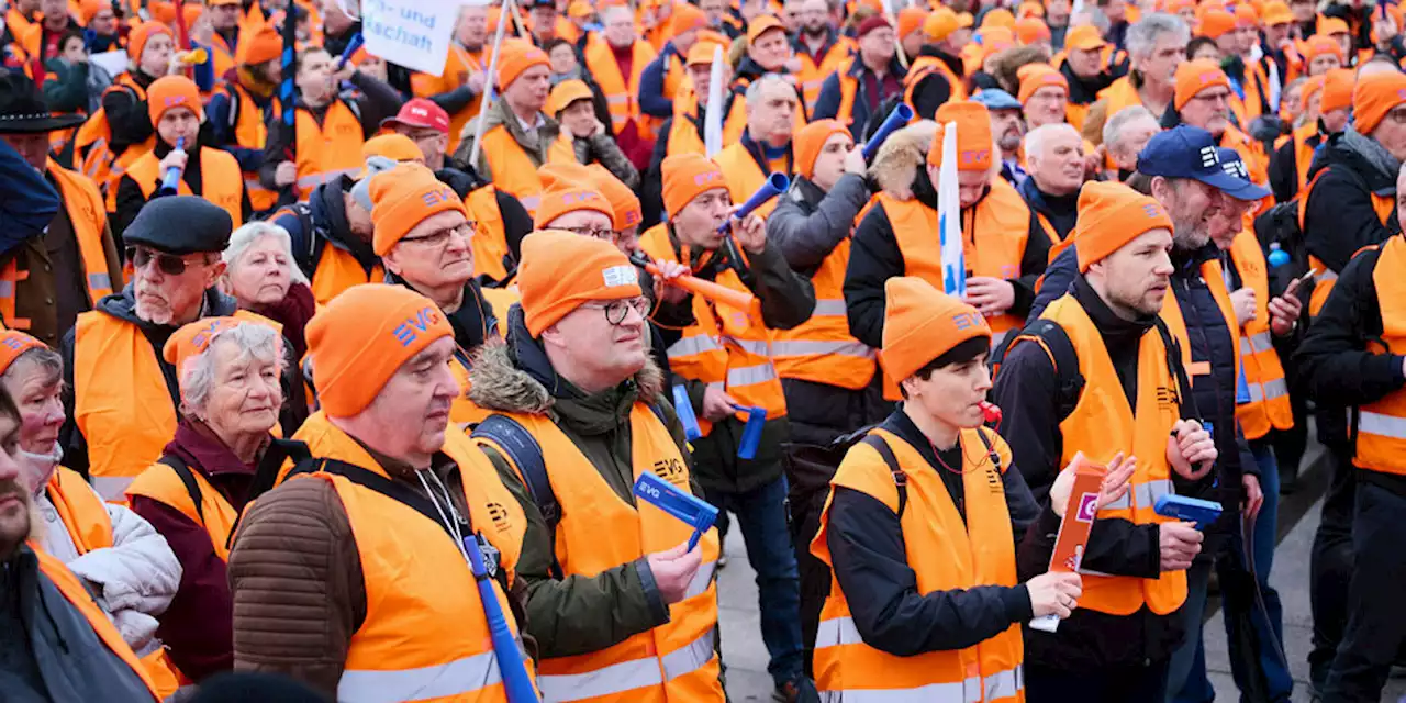
[[[283,405],[283,337],[252,315],[204,318],[176,330],[163,354],[180,377],[176,437],[127,498],[184,569],[156,634],[183,678],[200,682],[233,665],[231,536],[256,477],[285,458],[270,434]]]

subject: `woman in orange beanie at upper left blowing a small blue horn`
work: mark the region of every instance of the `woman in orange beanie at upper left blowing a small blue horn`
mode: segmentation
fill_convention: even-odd
[[[112,232],[121,238],[142,205],[162,195],[200,195],[224,209],[235,226],[249,219],[253,209],[239,162],[229,152],[200,143],[204,110],[195,83],[186,76],[166,76],[146,93],[157,142],[118,181]],[[179,177],[174,191],[167,193],[166,180],[173,169]]]

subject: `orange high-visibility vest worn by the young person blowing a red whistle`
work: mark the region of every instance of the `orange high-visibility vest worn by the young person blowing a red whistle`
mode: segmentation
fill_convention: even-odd
[[[987,433],[1001,465],[977,433]],[[1011,450],[1001,437],[984,429],[962,430],[962,485],[966,520],[952,503],[952,495],[911,444],[883,429],[882,437],[907,477],[908,501],[900,517],[908,568],[917,576],[920,595],[966,591],[981,586],[1015,586],[1015,537],[1001,489],[1001,472],[1011,465]],[[835,471],[831,485],[859,491],[898,513],[898,489],[893,472],[879,451],[855,444]],[[993,488],[994,486],[994,488]],[[830,503],[825,499],[820,531],[810,551],[834,567],[827,543]],[[1021,664],[1025,648],[1021,624],[963,650],[943,650],[896,657],[865,644],[855,627],[849,595],[831,576],[830,596],[820,612],[815,636],[815,688],[823,700],[925,700],[932,703],[1022,702],[1025,683]],[[865,598],[853,593],[853,598]]]

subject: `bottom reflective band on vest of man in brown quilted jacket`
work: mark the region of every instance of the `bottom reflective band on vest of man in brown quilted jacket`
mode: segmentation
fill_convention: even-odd
[[[392,703],[464,696],[503,681],[492,650],[415,669],[346,669],[337,682],[339,703]]]

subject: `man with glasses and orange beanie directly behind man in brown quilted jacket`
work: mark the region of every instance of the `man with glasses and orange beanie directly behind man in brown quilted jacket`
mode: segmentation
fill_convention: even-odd
[[[450,368],[461,391],[450,408],[450,420],[478,422],[485,413],[467,398],[470,354],[484,342],[502,337],[499,321],[517,295],[479,287],[474,278],[475,222],[464,201],[434,172],[402,163],[373,176],[368,186],[375,228],[371,246],[385,264],[387,283],[434,301],[454,329],[457,347]]]

